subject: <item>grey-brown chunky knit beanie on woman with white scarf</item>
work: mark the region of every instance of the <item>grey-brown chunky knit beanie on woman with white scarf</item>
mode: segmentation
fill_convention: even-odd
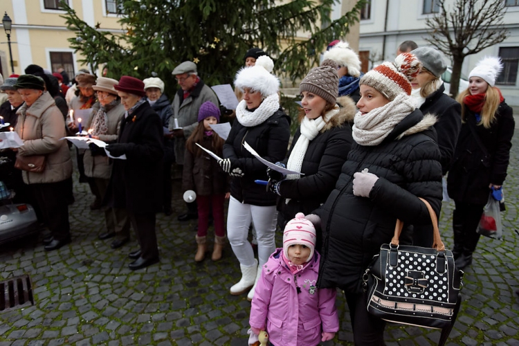
[[[334,62],[330,63],[334,65]],[[327,64],[327,60],[319,67],[310,70],[299,84],[299,92],[308,91],[324,98],[331,104],[336,104],[339,93],[339,76],[334,67]]]

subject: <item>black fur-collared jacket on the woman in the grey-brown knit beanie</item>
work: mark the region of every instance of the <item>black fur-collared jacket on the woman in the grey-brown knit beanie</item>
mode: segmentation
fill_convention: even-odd
[[[286,179],[280,183],[281,197],[277,198],[277,224],[284,229],[286,222],[302,212],[309,214],[312,210],[319,208],[325,203],[340,174],[340,167],[348,156],[349,148],[352,147],[352,121],[356,107],[353,100],[343,96],[339,113],[329,119],[320,133],[310,141],[307,152],[301,166],[304,173],[300,179]],[[298,141],[301,131],[300,127],[295,131],[289,154],[284,159],[284,164],[289,161],[295,143]],[[290,199],[286,203],[286,199]]]

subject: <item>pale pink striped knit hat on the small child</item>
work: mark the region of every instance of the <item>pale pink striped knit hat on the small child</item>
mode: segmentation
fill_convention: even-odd
[[[291,219],[285,226],[283,232],[283,253],[289,258],[289,246],[300,244],[310,248],[310,255],[305,262],[313,257],[313,249],[316,248],[316,228],[313,224],[304,219],[304,214],[298,212],[294,219]]]

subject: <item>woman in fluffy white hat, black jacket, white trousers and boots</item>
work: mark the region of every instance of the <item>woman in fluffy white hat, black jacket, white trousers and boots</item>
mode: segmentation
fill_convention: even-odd
[[[258,261],[247,242],[253,221],[257,233],[260,268],[275,251],[277,212],[276,195],[265,192],[255,180],[268,180],[266,167],[244,148],[244,143],[270,162],[282,161],[290,138],[290,118],[280,107],[277,95],[280,81],[271,74],[273,62],[264,55],[255,66],[238,71],[235,86],[242,90],[243,100],[236,109],[236,120],[224,145],[224,160],[219,161],[233,177],[227,217],[227,236],[239,260],[242,279],[230,288],[230,294],[245,293],[257,281]],[[248,294],[252,300],[254,287]]]

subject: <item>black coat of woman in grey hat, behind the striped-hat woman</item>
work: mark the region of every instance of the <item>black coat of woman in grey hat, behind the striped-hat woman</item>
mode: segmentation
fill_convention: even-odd
[[[462,128],[462,105],[444,91],[445,85],[441,84],[437,91],[427,96],[420,111],[424,114],[434,114],[438,118],[435,129],[441,153],[441,172],[445,175],[453,159],[459,130]]]

